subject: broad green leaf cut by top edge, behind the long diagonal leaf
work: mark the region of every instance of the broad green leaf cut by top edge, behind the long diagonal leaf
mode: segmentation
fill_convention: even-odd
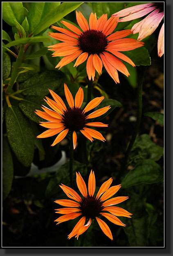
[[[47,15],[52,14],[60,2],[31,2],[27,20],[29,23],[29,33],[33,32],[38,23]]]

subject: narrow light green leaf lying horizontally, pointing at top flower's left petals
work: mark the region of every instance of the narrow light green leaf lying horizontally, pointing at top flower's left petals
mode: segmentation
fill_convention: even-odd
[[[21,38],[18,40],[11,41],[10,43],[6,44],[6,47],[11,47],[11,46],[16,46],[20,44],[26,44],[26,43],[37,43],[37,42],[51,42],[49,37],[26,37],[26,38]]]

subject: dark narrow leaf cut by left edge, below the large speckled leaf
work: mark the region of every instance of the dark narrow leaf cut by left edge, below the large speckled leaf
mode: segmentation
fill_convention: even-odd
[[[2,200],[4,200],[10,190],[13,181],[13,160],[7,137],[2,136]]]

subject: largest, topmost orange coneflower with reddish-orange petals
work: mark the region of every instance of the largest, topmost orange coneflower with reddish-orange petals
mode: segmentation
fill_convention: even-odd
[[[118,18],[111,17],[107,20],[107,14],[103,14],[97,20],[96,14],[91,13],[89,19],[90,27],[80,11],[79,13],[76,11],[76,20],[82,31],[66,21],[61,21],[69,30],[52,26],[52,28],[61,33],[49,33],[50,37],[63,41],[63,43],[49,46],[51,48],[49,50],[55,51],[53,53],[54,57],[65,56],[57,64],[56,68],[59,67],[61,69],[76,58],[74,66],[79,66],[88,58],[86,71],[89,80],[91,78],[94,80],[95,70],[101,74],[103,65],[116,83],[119,82],[117,70],[126,76],[130,75],[120,59],[132,66],[135,66],[135,64],[119,51],[133,50],[143,46],[144,43],[132,38],[124,38],[132,34],[130,30],[122,30],[110,34],[115,30]]]

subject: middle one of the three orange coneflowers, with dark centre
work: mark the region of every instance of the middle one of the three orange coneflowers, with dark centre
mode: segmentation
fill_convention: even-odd
[[[73,148],[76,147],[77,132],[81,132],[87,139],[91,142],[95,139],[105,141],[106,139],[96,130],[88,128],[88,126],[93,127],[107,127],[108,124],[101,122],[88,122],[88,119],[99,117],[102,114],[106,113],[110,106],[102,107],[90,114],[87,114],[88,111],[92,110],[94,107],[97,107],[101,101],[103,101],[104,96],[94,98],[90,101],[84,109],[81,109],[83,103],[83,89],[80,87],[76,93],[75,100],[68,89],[67,85],[64,83],[64,91],[69,104],[67,108],[61,99],[54,91],[49,90],[50,94],[54,98],[54,101],[47,98],[45,102],[53,109],[49,109],[43,105],[42,109],[45,112],[36,110],[36,114],[39,117],[46,119],[48,122],[40,122],[40,125],[49,128],[44,133],[37,136],[37,138],[46,138],[58,134],[51,146],[56,145],[61,142],[62,139],[67,135],[68,131],[72,132],[73,136]]]

